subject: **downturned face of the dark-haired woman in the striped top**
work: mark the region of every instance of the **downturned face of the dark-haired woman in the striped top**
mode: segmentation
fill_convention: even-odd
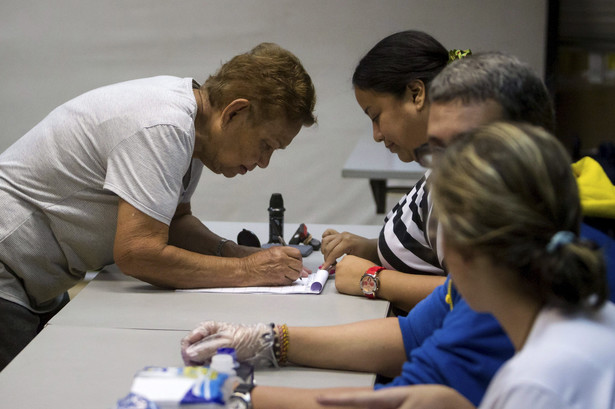
[[[374,140],[383,142],[402,162],[414,161],[414,149],[427,142],[429,109],[424,87],[420,100],[410,88],[401,99],[360,88],[355,88],[355,97],[372,121]]]

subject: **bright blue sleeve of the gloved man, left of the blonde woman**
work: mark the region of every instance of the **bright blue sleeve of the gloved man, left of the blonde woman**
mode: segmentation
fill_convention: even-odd
[[[407,361],[400,376],[376,389],[441,384],[480,404],[491,378],[513,356],[514,348],[496,319],[474,312],[452,285],[447,303],[449,283],[450,278],[406,317],[399,317]]]

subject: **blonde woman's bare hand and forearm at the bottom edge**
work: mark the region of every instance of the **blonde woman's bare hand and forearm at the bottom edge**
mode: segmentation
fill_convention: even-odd
[[[459,392],[443,385],[412,385],[326,394],[316,398],[321,405],[355,406],[367,409],[476,409]]]

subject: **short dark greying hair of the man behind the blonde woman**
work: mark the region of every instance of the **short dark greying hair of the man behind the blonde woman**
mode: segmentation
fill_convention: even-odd
[[[504,118],[555,130],[555,111],[543,81],[517,58],[498,52],[454,61],[429,86],[432,103],[497,102]]]

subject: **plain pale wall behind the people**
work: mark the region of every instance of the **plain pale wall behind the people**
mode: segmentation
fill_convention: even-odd
[[[378,40],[405,29],[448,48],[506,51],[543,71],[546,0],[3,0],[0,151],[88,89],[158,74],[203,81],[272,41],[312,76],[319,124],[267,169],[234,179],[204,171],[195,213],[265,221],[271,193],[280,192],[287,222],[378,224],[368,182],[341,178],[355,141],[371,133],[350,79]]]

